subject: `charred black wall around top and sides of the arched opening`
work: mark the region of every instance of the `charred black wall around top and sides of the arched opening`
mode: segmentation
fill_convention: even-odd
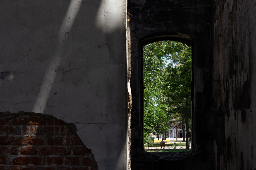
[[[141,91],[141,43],[149,37],[194,43],[193,78],[193,150],[204,159],[212,153],[212,7],[206,0],[131,0],[131,158],[143,148]]]

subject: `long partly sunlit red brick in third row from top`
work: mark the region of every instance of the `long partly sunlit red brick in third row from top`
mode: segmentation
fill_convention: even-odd
[[[13,145],[44,145],[44,137],[12,137]]]

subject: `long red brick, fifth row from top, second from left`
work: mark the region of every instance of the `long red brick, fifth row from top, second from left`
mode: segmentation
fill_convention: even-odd
[[[45,164],[45,157],[17,157],[12,159],[13,165],[44,165]]]

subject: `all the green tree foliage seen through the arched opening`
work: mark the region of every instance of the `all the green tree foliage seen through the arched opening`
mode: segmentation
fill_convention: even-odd
[[[168,132],[175,122],[184,127],[188,110],[190,115],[191,47],[157,41],[144,46],[143,53],[145,137]]]

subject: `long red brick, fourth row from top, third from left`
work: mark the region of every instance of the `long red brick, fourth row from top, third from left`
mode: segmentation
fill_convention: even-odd
[[[39,147],[39,155],[70,155],[71,148],[64,146],[43,146]]]

